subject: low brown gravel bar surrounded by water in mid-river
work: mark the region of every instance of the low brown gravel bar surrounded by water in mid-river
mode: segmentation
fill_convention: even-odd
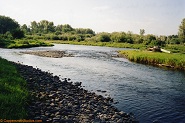
[[[41,57],[52,57],[52,58],[62,58],[62,57],[72,57],[72,54],[67,54],[65,51],[29,51],[29,52],[21,52],[24,54],[31,54],[31,55],[37,55]]]

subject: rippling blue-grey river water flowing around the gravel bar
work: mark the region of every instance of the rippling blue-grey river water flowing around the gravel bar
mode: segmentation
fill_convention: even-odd
[[[74,57],[47,58],[20,53],[36,50],[62,50]],[[85,89],[114,98],[119,102],[114,104],[119,110],[133,113],[141,123],[185,123],[185,72],[111,57],[117,50],[125,49],[55,44],[0,49],[0,56],[50,71],[61,78],[71,78],[73,82],[81,81]]]

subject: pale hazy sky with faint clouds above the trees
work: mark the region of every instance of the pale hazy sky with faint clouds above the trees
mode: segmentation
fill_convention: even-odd
[[[185,18],[185,0],[0,0],[0,15],[20,25],[48,20],[96,33],[173,35]]]

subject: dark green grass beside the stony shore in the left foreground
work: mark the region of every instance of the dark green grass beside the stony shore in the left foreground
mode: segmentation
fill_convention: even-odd
[[[0,119],[26,118],[26,82],[16,67],[0,58]]]

